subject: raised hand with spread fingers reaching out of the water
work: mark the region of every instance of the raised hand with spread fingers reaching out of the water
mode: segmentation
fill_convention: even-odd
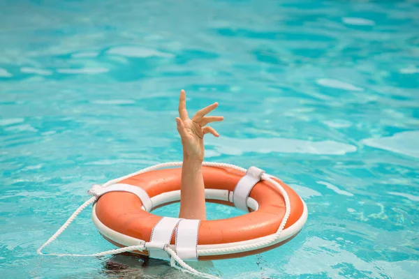
[[[218,103],[213,103],[197,112],[192,119],[189,119],[186,110],[186,93],[184,90],[180,91],[179,97],[179,117],[176,117],[177,131],[182,138],[182,146],[184,156],[189,160],[204,160],[204,135],[211,133],[215,137],[219,137],[219,133],[208,123],[223,121],[223,116],[205,116],[215,110]]]

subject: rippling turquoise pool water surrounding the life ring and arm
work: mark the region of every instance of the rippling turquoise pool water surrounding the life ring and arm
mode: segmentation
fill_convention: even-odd
[[[285,246],[203,269],[416,278],[418,14],[418,1],[389,0],[0,1],[1,278],[188,277],[159,261],[36,255],[92,183],[182,159],[182,88],[191,112],[218,101],[225,116],[206,160],[266,169],[309,209]],[[112,247],[86,211],[45,252]]]

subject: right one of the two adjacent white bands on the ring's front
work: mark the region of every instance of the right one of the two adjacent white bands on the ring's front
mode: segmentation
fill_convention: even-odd
[[[198,261],[200,220],[182,219],[176,228],[176,253],[184,260]]]

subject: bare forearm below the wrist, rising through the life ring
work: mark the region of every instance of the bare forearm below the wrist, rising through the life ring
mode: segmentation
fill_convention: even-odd
[[[200,160],[184,154],[179,218],[205,220],[205,187]]]

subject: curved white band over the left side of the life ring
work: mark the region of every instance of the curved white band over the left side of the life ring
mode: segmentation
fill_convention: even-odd
[[[144,206],[145,211],[149,212],[153,208],[152,199],[150,199],[149,195],[147,194],[147,192],[145,192],[145,190],[142,190],[142,188],[140,187],[125,183],[112,184],[111,186],[107,187],[102,187],[98,184],[95,184],[94,186],[91,186],[90,190],[87,193],[95,197],[101,197],[101,195],[110,192],[132,193],[141,200],[142,206]]]

